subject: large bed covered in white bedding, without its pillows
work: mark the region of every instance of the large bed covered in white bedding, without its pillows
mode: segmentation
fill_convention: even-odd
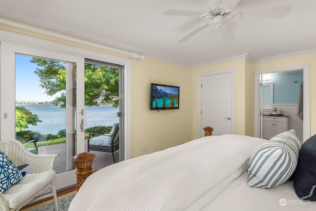
[[[316,202],[300,200],[291,179],[248,187],[254,152],[266,142],[206,136],[119,162],[91,174],[69,211],[315,211]]]

